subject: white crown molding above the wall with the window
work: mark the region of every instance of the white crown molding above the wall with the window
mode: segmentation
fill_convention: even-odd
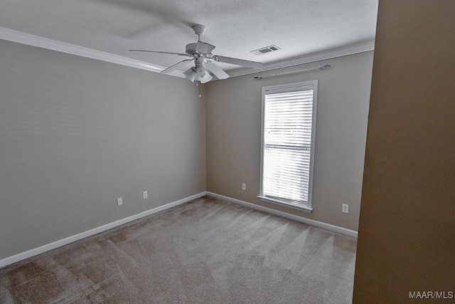
[[[366,41],[362,43],[351,44],[350,46],[342,46],[340,48],[332,48],[327,51],[321,51],[311,53],[303,56],[298,56],[289,59],[283,59],[281,61],[273,61],[271,63],[265,63],[264,68],[254,70],[252,68],[239,68],[228,72],[230,77],[237,77],[242,75],[250,75],[255,73],[264,72],[266,70],[276,70],[278,68],[287,68],[293,65],[299,65],[304,63],[312,63],[315,61],[323,61],[326,59],[337,58],[342,56],[353,55],[356,53],[363,53],[373,51],[375,49],[375,41]]]

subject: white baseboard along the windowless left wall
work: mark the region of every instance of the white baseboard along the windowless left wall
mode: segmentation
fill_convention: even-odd
[[[171,202],[169,204],[166,204],[166,205],[163,205],[163,206],[159,206],[159,207],[156,207],[154,209],[150,209],[150,210],[141,212],[139,214],[134,214],[133,216],[128,216],[128,217],[126,217],[124,219],[119,219],[118,221],[113,221],[112,223],[105,224],[105,225],[99,226],[99,227],[94,228],[94,229],[90,229],[90,230],[82,232],[80,234],[75,234],[74,236],[68,236],[68,238],[61,239],[61,240],[58,240],[58,241],[54,241],[52,243],[48,243],[47,245],[43,245],[43,246],[40,246],[40,247],[37,247],[37,248],[33,248],[33,249],[29,250],[29,251],[18,253],[18,254],[14,255],[14,256],[9,256],[8,258],[4,258],[4,259],[0,260],[0,268],[4,267],[6,265],[12,264],[12,263],[16,263],[18,261],[22,261],[22,260],[24,260],[26,258],[31,258],[32,256],[36,256],[36,255],[38,255],[40,253],[44,253],[46,251],[50,251],[52,249],[64,246],[64,245],[66,245],[68,243],[73,243],[74,241],[79,241],[80,239],[87,238],[88,236],[93,236],[95,234],[100,234],[101,232],[107,231],[107,230],[115,228],[117,226],[121,226],[123,224],[127,224],[130,221],[135,221],[137,219],[141,219],[144,216],[149,216],[151,214],[156,214],[159,211],[163,211],[163,210],[172,208],[174,206],[178,206],[178,205],[184,204],[184,203],[186,203],[188,201],[191,201],[193,199],[198,199],[198,198],[200,198],[202,196],[205,196],[206,194],[207,194],[207,192],[200,192],[198,194],[195,194],[195,195],[192,195],[192,196],[188,196],[188,197],[186,197],[184,199],[179,199],[178,201],[173,201],[173,202]]]

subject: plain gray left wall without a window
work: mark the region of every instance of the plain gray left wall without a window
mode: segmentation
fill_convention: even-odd
[[[193,83],[7,41],[0,63],[0,259],[205,191]]]

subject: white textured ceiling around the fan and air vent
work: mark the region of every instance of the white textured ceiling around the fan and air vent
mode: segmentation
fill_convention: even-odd
[[[214,54],[272,63],[373,41],[377,9],[378,0],[1,0],[0,27],[169,66],[182,58],[128,50],[184,53],[201,23]],[[282,50],[250,53],[272,44]]]

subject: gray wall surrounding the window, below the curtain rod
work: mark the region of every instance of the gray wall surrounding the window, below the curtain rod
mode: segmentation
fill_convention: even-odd
[[[245,75],[206,85],[207,191],[358,229],[373,52],[267,73],[330,63],[333,68],[255,80]],[[262,74],[267,74],[262,73]],[[262,75],[261,74],[261,75]],[[261,88],[319,80],[311,214],[259,201]],[[241,184],[247,184],[242,191]],[[341,213],[348,203],[349,214]]]

